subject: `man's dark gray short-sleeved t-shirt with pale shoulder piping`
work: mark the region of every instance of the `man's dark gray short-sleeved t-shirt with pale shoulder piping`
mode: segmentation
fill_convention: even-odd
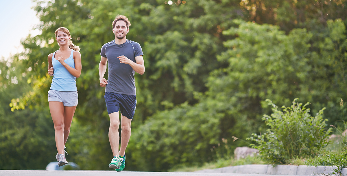
[[[124,55],[133,62],[136,62],[135,57],[143,55],[140,44],[127,39],[125,43],[117,45],[115,40],[113,40],[101,47],[100,55],[108,60],[109,76],[105,92],[136,95],[135,71],[130,65],[120,63],[117,57]]]

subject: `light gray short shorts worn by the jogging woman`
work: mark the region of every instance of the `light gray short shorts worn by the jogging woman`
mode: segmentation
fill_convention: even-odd
[[[49,102],[62,102],[64,106],[76,106],[78,104],[77,91],[64,92],[58,90],[48,91]]]

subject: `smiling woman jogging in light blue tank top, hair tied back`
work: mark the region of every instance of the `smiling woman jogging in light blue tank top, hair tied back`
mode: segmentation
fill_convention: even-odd
[[[53,76],[48,102],[56,132],[56,158],[62,166],[68,164],[64,148],[78,103],[76,78],[81,75],[82,64],[79,46],[72,43],[69,30],[60,27],[54,34],[59,50],[48,55],[48,74]]]

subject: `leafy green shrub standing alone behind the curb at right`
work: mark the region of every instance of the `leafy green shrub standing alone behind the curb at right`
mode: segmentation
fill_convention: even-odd
[[[271,116],[264,115],[262,120],[270,128],[265,134],[252,134],[247,138],[258,145],[251,144],[253,148],[259,150],[260,157],[272,164],[285,164],[290,159],[310,157],[316,155],[321,148],[327,146],[327,138],[331,128],[327,131],[327,126],[323,119],[321,109],[315,117],[312,117],[310,109],[306,108],[309,103],[302,106],[296,103],[290,107],[282,106],[283,112],[277,110],[277,106],[271,100],[266,99],[272,105]]]

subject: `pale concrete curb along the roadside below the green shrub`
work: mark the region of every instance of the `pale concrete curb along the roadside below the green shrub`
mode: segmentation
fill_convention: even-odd
[[[266,175],[333,175],[336,166],[289,166],[289,165],[241,165],[229,166],[218,169],[204,169],[200,173],[236,173],[236,174],[266,174]],[[342,176],[347,176],[347,168],[341,171]]]

